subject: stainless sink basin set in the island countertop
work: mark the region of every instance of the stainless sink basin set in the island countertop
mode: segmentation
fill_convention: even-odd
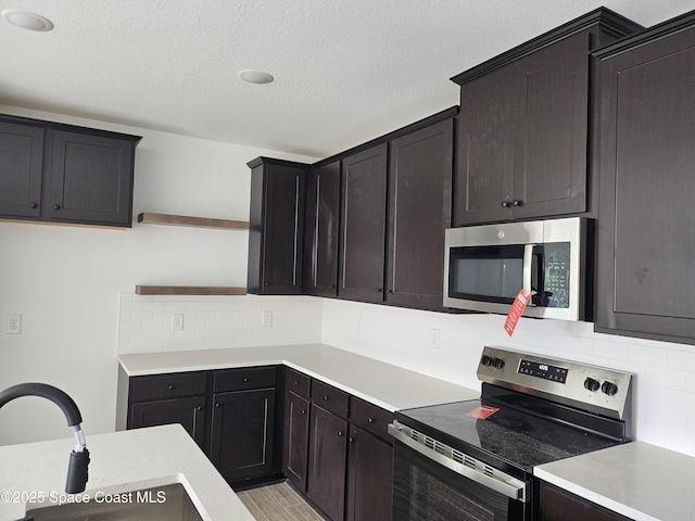
[[[125,492],[123,492],[125,491]],[[79,495],[77,495],[79,496]],[[48,506],[29,505],[23,521],[203,521],[182,483],[147,488],[92,491]],[[53,498],[51,498],[53,499]]]

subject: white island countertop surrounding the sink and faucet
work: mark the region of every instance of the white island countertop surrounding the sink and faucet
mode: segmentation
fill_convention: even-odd
[[[119,494],[180,482],[203,519],[254,521],[178,424],[93,436],[87,433],[86,437],[91,458],[86,493]],[[0,521],[24,518],[22,499],[26,495],[42,496],[43,505],[61,500],[73,447],[74,439],[0,447]]]

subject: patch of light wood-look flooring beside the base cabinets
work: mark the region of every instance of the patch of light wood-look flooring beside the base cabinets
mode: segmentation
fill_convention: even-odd
[[[324,521],[287,483],[237,493],[256,521]]]

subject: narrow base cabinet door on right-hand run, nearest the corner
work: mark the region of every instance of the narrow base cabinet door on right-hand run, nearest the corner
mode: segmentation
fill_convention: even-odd
[[[306,492],[308,410],[307,399],[287,393],[282,468],[288,480],[302,492]]]

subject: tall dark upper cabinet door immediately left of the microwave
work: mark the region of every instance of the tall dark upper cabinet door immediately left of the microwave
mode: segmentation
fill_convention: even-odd
[[[446,119],[391,142],[386,294],[390,304],[442,308],[453,136],[453,120]]]

